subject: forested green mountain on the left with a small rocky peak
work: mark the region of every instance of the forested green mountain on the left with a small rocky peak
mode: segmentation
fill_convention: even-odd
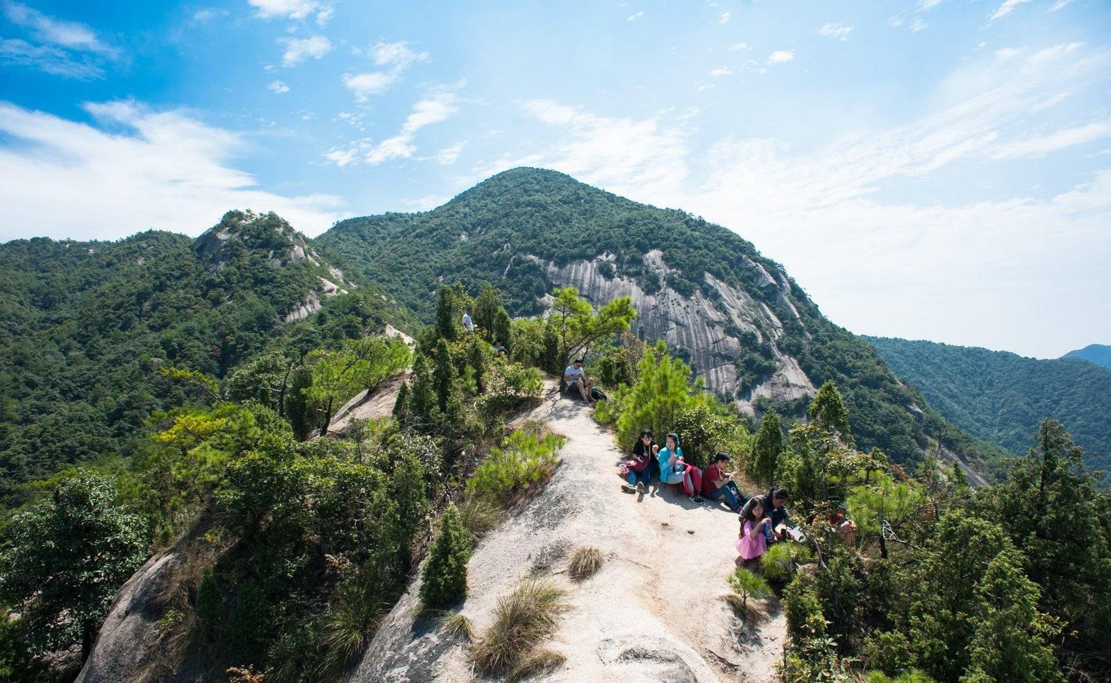
[[[242,212],[197,239],[0,245],[0,500],[64,465],[129,453],[152,411],[188,398],[159,367],[222,377],[277,337],[311,348],[327,324],[292,323],[326,302],[404,319],[333,263],[277,215]]]

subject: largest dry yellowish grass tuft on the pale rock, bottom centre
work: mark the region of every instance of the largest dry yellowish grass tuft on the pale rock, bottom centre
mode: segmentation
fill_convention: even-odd
[[[567,610],[567,590],[551,578],[522,579],[498,599],[493,623],[471,651],[476,669],[483,675],[512,674],[556,633]]]

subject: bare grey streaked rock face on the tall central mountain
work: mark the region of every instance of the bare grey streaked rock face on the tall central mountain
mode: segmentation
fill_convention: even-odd
[[[594,305],[602,305],[619,296],[628,296],[640,312],[633,322],[633,332],[642,339],[665,339],[669,347],[680,355],[687,355],[690,365],[707,388],[725,399],[735,400],[738,406],[753,414],[753,401],[759,397],[771,400],[791,400],[813,396],[814,386],[799,367],[798,360],[783,353],[777,345],[783,338],[783,323],[763,302],[752,298],[743,289],[731,287],[713,275],[704,275],[710,296],[702,289],[692,296],[683,296],[663,286],[654,294],[648,294],[637,281],[614,274],[607,277],[602,264],[612,259],[601,254],[592,261],[577,261],[562,267],[552,262],[538,261],[551,282],[561,286],[574,286],[579,294]],[[779,306],[792,314],[801,324],[799,314],[787,293],[785,281],[777,281],[760,264],[745,258],[749,272],[757,286],[771,288]],[[663,253],[653,249],[644,255],[644,265],[667,277],[669,268]],[[612,272],[612,271],[611,271]],[[745,334],[747,333],[747,334]],[[762,349],[771,356],[774,369],[763,373],[755,381],[745,386],[741,383],[738,360],[747,349],[742,338],[750,339],[749,346]],[[769,354],[770,351],[770,354]]]

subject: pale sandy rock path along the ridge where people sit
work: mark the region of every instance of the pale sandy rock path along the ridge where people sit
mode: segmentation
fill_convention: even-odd
[[[537,570],[562,572],[581,546],[605,563],[568,582],[571,610],[550,646],[567,663],[540,680],[582,683],[770,681],[784,620],[774,604],[758,628],[743,626],[718,600],[737,557],[737,516],[673,491],[623,493],[623,458],[591,410],[551,393],[529,416],[567,437],[543,493],[483,539],[468,565],[461,611],[481,632],[497,598]],[[665,487],[670,488],[670,487]],[[413,622],[414,590],[368,648],[352,681],[476,681],[460,643]]]

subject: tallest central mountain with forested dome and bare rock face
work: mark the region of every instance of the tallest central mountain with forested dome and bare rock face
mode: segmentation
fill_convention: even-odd
[[[750,414],[799,414],[834,380],[864,447],[914,461],[945,446],[980,468],[1002,451],[951,429],[872,347],[828,320],[779,264],[735,233],[539,169],[500,173],[433,211],[342,221],[317,238],[431,322],[441,283],[491,284],[512,315],[573,285],[595,304],[632,297],[634,332],[664,338],[705,387]]]

